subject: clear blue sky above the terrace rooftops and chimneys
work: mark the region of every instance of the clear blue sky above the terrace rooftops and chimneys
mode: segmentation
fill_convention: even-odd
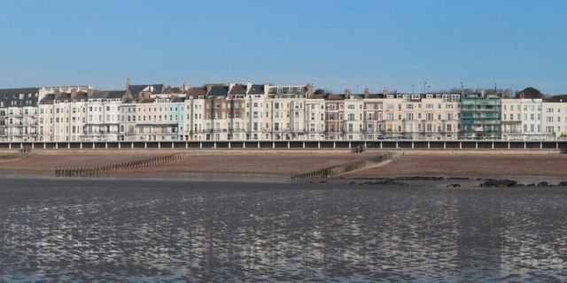
[[[567,93],[567,1],[0,2],[0,88],[132,83]]]

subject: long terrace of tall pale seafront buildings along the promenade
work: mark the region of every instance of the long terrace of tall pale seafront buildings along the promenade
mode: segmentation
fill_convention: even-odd
[[[484,94],[314,93],[206,84],[0,89],[0,142],[374,141],[567,138],[567,103]]]

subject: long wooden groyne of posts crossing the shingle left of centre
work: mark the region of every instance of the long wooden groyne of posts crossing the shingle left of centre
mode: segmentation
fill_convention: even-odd
[[[161,164],[169,164],[190,156],[206,155],[205,152],[183,152],[168,155],[165,157],[151,157],[130,162],[123,162],[119,164],[110,164],[105,166],[91,167],[91,168],[74,168],[74,169],[55,169],[56,177],[89,177],[97,176],[106,172],[113,172],[117,170],[141,168],[158,166]]]

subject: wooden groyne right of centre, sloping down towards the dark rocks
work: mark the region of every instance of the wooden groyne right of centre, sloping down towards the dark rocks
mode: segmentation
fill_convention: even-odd
[[[377,157],[369,157],[362,160],[353,161],[347,164],[340,164],[337,166],[332,166],[329,168],[317,170],[314,172],[307,172],[291,177],[291,179],[323,179],[336,177],[338,175],[344,174],[346,172],[353,172],[356,170],[366,169],[377,164],[383,163],[384,161],[391,160],[394,157],[393,153],[384,153]]]

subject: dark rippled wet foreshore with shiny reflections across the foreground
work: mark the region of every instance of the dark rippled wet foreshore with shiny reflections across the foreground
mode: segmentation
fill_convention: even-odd
[[[562,189],[0,187],[0,281],[567,280]]]

